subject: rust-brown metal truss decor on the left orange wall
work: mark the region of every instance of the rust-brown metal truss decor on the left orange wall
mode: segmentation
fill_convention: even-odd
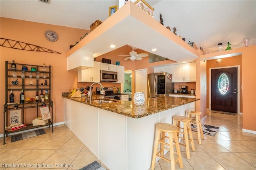
[[[0,39],[1,39],[0,46],[3,46],[3,47],[21,49],[21,50],[26,50],[26,51],[38,51],[38,52],[61,54],[57,51],[53,51],[51,49],[40,47],[38,45],[33,45],[30,43],[19,42],[16,40],[10,40],[10,39],[6,39],[6,38],[0,38]]]

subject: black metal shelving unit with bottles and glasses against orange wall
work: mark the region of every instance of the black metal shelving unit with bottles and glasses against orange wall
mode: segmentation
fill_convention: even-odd
[[[6,130],[6,126],[10,125],[10,123],[8,123],[8,113],[10,110],[14,109],[14,105],[18,105],[18,109],[21,110],[21,121],[24,124],[24,117],[26,116],[26,113],[24,113],[25,109],[30,109],[30,108],[37,108],[36,109],[36,115],[37,117],[40,116],[39,114],[39,109],[40,107],[43,107],[42,104],[45,103],[46,106],[49,106],[49,111],[51,114],[51,119],[49,119],[48,125],[49,128],[52,125],[52,132],[53,132],[53,101],[52,101],[52,67],[51,66],[45,66],[45,65],[30,65],[30,64],[21,64],[21,63],[15,63],[16,64],[16,69],[10,69],[10,65],[11,63],[8,61],[5,61],[5,104],[4,104],[4,143],[5,144],[5,138],[6,136],[8,136],[8,134],[13,133],[13,132],[18,132],[18,131],[24,131],[24,130],[28,130],[31,128],[38,128],[38,127],[44,127],[46,125],[40,125],[40,126],[33,126],[32,124],[26,124],[25,128],[21,128],[18,130],[14,130],[14,131],[7,131]],[[23,67],[27,67],[28,70],[23,70]],[[31,67],[35,67],[36,71],[31,71]],[[19,83],[17,85],[13,85],[11,83],[11,79],[13,78],[13,73],[14,71],[16,71],[16,79],[18,79]],[[21,77],[21,73],[22,71],[24,71],[25,77],[24,79],[22,79]],[[36,79],[36,84],[29,84],[28,81],[25,81],[26,79],[30,79],[29,76],[27,76],[28,74],[30,74],[30,72],[32,73],[32,80]],[[20,73],[20,74],[19,74]],[[40,77],[36,77],[37,74],[45,74],[46,76],[40,76]],[[44,83],[42,83],[42,81],[45,82],[48,81],[47,85],[45,85]],[[41,81],[41,83],[43,85],[41,85],[41,83],[39,83],[39,81]],[[43,90],[46,91],[48,90],[48,94],[49,94],[49,101],[47,102],[27,102],[24,101],[24,103],[20,103],[20,97],[16,97],[14,103],[8,103],[8,97],[10,94],[10,91],[21,91],[23,90],[24,92],[26,91],[34,91],[34,94],[36,94],[36,92],[40,93],[39,91]],[[16,93],[17,94],[17,93]],[[18,96],[18,95],[17,95]],[[25,96],[26,97],[26,96]]]

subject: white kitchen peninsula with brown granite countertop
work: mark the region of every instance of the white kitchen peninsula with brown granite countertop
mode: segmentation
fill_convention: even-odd
[[[64,122],[109,169],[148,169],[156,123],[172,123],[174,115],[184,115],[197,100],[157,97],[139,106],[132,101],[99,104],[64,96]]]

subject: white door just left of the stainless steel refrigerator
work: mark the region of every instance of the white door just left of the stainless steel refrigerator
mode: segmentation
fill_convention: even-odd
[[[135,70],[135,92],[143,92],[145,98],[148,98],[147,75],[147,69]]]

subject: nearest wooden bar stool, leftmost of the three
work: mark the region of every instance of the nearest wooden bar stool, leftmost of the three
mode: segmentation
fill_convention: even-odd
[[[163,160],[171,162],[172,170],[175,170],[175,164],[177,161],[179,161],[180,168],[183,169],[179,140],[178,140],[178,136],[177,136],[178,127],[176,127],[172,124],[168,124],[168,123],[158,123],[158,124],[156,124],[156,130],[157,130],[157,134],[156,134],[156,139],[154,142],[154,150],[153,150],[151,169],[154,170],[154,168],[155,168],[156,156],[158,156],[159,158],[161,158]],[[166,133],[169,136],[165,136]],[[166,138],[169,139],[169,143],[165,142]],[[173,142],[175,144],[173,144]],[[157,152],[159,143],[160,143],[160,150]],[[169,148],[166,148],[165,145],[169,146]],[[174,152],[174,146],[176,146],[176,152]],[[170,151],[170,160],[164,158],[164,149]],[[174,158],[174,153],[176,153],[178,155],[177,159]]]

